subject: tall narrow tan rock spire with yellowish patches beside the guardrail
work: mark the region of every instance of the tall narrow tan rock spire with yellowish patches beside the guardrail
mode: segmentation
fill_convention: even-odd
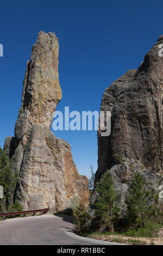
[[[70,145],[50,130],[62,97],[58,54],[58,38],[41,31],[27,62],[15,137],[4,143],[20,173],[15,198],[24,210],[47,206],[51,212],[65,210],[73,196],[88,204],[87,178],[78,174]]]

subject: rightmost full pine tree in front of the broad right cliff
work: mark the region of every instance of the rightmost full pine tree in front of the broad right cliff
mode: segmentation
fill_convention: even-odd
[[[126,200],[127,217],[131,225],[145,226],[145,215],[148,213],[147,205],[150,192],[146,189],[143,175],[136,173],[128,188],[129,197]]]

